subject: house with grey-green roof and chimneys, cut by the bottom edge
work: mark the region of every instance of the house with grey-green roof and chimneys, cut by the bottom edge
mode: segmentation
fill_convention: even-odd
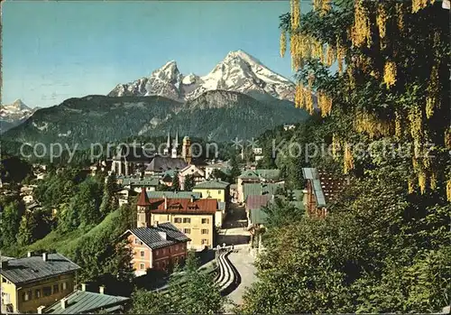
[[[39,314],[121,314],[128,307],[130,298],[108,295],[106,288],[100,286],[98,292],[88,292],[87,285],[81,284],[81,290],[71,292],[48,308],[38,308]]]

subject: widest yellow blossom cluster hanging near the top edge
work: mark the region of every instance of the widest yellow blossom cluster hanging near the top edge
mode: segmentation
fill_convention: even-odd
[[[364,0],[355,0],[354,25],[351,29],[353,45],[362,47],[371,46],[371,25],[368,10],[364,7]]]

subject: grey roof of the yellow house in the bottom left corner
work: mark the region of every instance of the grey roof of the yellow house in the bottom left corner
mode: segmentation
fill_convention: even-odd
[[[8,260],[1,270],[2,276],[10,282],[30,283],[43,278],[63,273],[72,273],[80,269],[78,264],[71,262],[60,254],[48,254],[44,262],[42,255]]]

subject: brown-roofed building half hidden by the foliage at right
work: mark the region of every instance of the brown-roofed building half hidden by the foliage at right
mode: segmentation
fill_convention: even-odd
[[[310,217],[324,218],[327,208],[336,200],[337,195],[345,187],[345,181],[316,168],[303,168],[302,173],[307,181],[304,204]]]

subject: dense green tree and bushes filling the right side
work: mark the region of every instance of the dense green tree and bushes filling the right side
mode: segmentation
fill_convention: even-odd
[[[270,228],[263,237],[266,250],[257,261],[259,279],[245,293],[240,312],[429,313],[449,305],[451,206],[446,181],[450,164],[445,147],[449,15],[437,3],[411,14],[410,2],[400,4],[401,14],[395,13],[398,5],[390,1],[356,2],[364,7],[364,14],[354,15],[353,3],[335,2],[327,13],[304,14],[297,30],[290,29],[290,14],[281,16],[284,32],[345,47],[348,71],[333,72],[318,56],[303,56],[297,78],[304,87],[331,97],[332,109],[327,113],[320,104],[320,111],[306,125],[288,135],[289,143],[274,162],[299,188],[304,187],[299,166],[318,167],[333,177],[347,177],[348,182],[328,205],[326,218],[306,216],[290,222],[280,219],[286,212],[283,205],[269,209]],[[381,10],[389,16],[385,46],[377,31],[382,23],[375,22]],[[400,15],[403,29],[393,21]],[[369,16],[372,37],[368,45],[359,46],[355,32],[348,30],[364,16]],[[361,36],[364,30],[357,32]],[[383,73],[387,60],[396,64],[394,75],[390,70]],[[434,67],[437,76],[429,77]],[[432,110],[434,80],[439,88]],[[306,144],[321,148],[334,142],[341,149],[344,144],[370,149],[360,155],[341,150],[316,156],[306,152]],[[433,156],[412,159],[411,152],[391,150],[391,144],[412,143],[423,150],[427,142],[435,144]],[[300,144],[303,152],[284,154],[290,144]],[[271,161],[263,162],[271,166]]]

